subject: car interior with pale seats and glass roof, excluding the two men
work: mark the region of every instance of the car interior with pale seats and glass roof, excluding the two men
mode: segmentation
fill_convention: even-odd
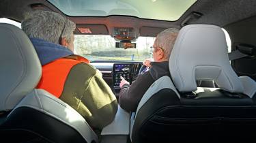
[[[256,142],[256,1],[2,0],[1,142]],[[156,80],[136,112],[118,106],[100,133],[57,97],[35,89],[42,65],[20,27],[36,10],[76,24],[75,50],[119,98],[145,72],[156,35],[180,29],[170,75]],[[84,48],[85,47],[85,48]]]

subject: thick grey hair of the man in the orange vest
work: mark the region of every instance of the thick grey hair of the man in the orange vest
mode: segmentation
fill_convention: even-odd
[[[70,42],[76,25],[60,14],[39,10],[25,16],[21,29],[31,38],[59,44],[59,37],[66,37],[67,42]]]

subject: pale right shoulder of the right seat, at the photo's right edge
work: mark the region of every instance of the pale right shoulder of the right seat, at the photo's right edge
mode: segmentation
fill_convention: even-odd
[[[248,76],[240,76],[239,78],[244,86],[244,94],[253,98],[256,93],[256,82]]]

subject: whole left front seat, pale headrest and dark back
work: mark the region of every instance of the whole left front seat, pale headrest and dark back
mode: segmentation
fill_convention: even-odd
[[[0,142],[98,142],[78,112],[34,89],[42,67],[27,35],[0,23],[0,40]]]

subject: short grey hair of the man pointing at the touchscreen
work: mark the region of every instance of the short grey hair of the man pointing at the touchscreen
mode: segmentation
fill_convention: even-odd
[[[168,61],[179,31],[179,29],[169,28],[158,33],[156,36],[154,47],[162,48]]]

